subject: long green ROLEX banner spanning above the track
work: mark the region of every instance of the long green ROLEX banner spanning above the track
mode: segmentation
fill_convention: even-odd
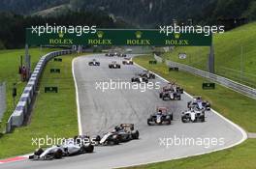
[[[202,34],[161,34],[157,29],[98,29],[96,33],[44,33],[41,36],[26,29],[29,45],[156,45],[209,46],[212,36]]]

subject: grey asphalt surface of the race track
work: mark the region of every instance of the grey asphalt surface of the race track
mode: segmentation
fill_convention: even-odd
[[[96,58],[100,67],[89,67],[88,62]],[[103,169],[121,166],[137,165],[161,160],[174,159],[188,155],[204,154],[210,151],[232,146],[242,139],[243,135],[215,113],[206,113],[205,123],[182,124],[180,112],[186,109],[186,102],[190,98],[183,94],[181,100],[163,101],[159,99],[159,90],[107,90],[96,89],[96,82],[119,80],[130,81],[136,72],[141,72],[137,66],[123,66],[120,70],[109,69],[112,61],[121,64],[123,59],[105,57],[104,55],[89,55],[74,61],[75,76],[79,90],[80,122],[83,134],[102,134],[120,123],[133,123],[140,131],[140,139],[117,146],[96,147],[93,154],[74,155],[58,160],[30,161],[22,160],[1,164],[0,168],[18,169]],[[161,78],[150,80],[166,82]],[[175,120],[171,126],[148,127],[146,119],[156,106],[167,106],[174,112]],[[160,145],[160,138],[224,138],[224,145],[176,145],[169,148]],[[169,142],[171,143],[171,142]]]

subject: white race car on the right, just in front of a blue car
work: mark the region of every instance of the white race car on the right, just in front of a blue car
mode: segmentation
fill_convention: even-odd
[[[183,123],[205,122],[205,110],[200,110],[196,107],[190,108],[181,113],[181,121]]]

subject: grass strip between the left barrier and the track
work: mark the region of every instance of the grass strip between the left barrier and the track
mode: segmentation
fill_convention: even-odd
[[[72,59],[62,56],[62,62],[48,62],[44,70],[40,91],[35,102],[31,123],[17,127],[13,133],[0,138],[0,158],[31,153],[32,138],[70,137],[78,134],[76,92],[72,75]],[[50,68],[59,68],[61,73],[49,73]],[[57,86],[57,94],[44,93],[45,86]]]

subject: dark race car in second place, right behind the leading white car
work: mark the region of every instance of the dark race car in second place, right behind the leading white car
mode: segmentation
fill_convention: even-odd
[[[134,124],[121,124],[114,127],[111,132],[104,134],[101,138],[96,136],[95,141],[98,145],[116,145],[133,139],[139,139],[139,131],[134,129]]]

